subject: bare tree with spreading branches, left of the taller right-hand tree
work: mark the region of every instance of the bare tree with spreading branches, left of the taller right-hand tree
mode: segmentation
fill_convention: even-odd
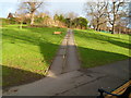
[[[86,2],[85,3],[86,15],[92,17],[92,25],[96,30],[99,26],[107,22],[107,2]]]

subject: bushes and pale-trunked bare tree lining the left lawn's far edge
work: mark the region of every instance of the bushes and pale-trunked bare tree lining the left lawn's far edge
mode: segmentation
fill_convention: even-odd
[[[44,1],[34,0],[27,2],[21,2],[17,11],[9,13],[8,20],[11,24],[29,24],[31,26],[58,26],[58,27],[69,27],[69,28],[87,28],[88,21],[85,17],[78,16],[73,12],[58,14],[50,16],[48,13],[39,12],[45,5]]]

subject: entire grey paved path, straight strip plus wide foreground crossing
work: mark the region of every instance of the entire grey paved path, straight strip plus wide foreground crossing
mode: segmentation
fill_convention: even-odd
[[[97,96],[98,88],[110,91],[129,79],[129,60],[80,70],[73,33],[69,30],[47,77],[12,87],[3,96]]]

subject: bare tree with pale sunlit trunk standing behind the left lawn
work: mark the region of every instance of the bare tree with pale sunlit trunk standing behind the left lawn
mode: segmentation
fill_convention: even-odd
[[[34,15],[37,9],[41,7],[44,2],[40,0],[28,0],[26,2],[22,2],[20,9],[23,9],[26,13],[31,14],[31,25],[34,24]]]

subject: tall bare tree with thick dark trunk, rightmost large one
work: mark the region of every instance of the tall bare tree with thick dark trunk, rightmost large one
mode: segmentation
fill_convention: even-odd
[[[108,2],[108,22],[112,26],[111,34],[115,34],[115,26],[120,23],[121,17],[126,15],[126,9],[123,9],[126,2],[124,0],[114,0]]]

